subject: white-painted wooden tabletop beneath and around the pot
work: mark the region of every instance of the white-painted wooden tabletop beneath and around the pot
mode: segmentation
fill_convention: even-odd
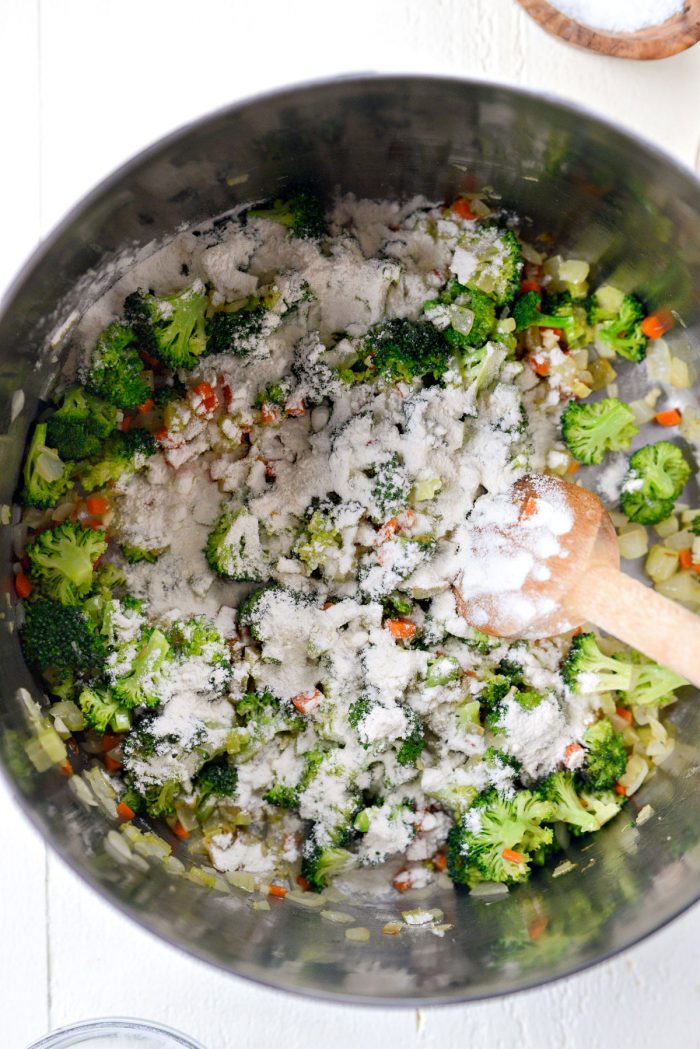
[[[130,154],[227,102],[311,77],[517,82],[597,110],[688,165],[700,137],[700,47],[649,64],[576,51],[514,0],[0,0],[0,288]],[[422,1012],[340,1008],[225,977],[161,944],[47,853],[1,785],[0,812],[0,1049],[114,1014],[171,1024],[207,1049],[700,1047],[698,907],[543,990]]]

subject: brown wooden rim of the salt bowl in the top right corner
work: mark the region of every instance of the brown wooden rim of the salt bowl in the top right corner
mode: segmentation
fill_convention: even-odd
[[[569,44],[588,47],[618,59],[665,59],[700,40],[700,0],[685,0],[683,9],[660,25],[636,33],[609,33],[574,22],[547,0],[517,0],[522,7],[551,33]]]

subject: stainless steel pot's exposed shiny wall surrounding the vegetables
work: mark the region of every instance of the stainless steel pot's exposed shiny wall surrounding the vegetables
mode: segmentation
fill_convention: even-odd
[[[120,250],[167,236],[291,181],[326,194],[423,193],[450,198],[490,185],[598,275],[675,308],[700,341],[700,186],[690,172],[587,113],[511,88],[420,77],[360,77],[312,84],[235,105],[164,140],[102,184],[48,238],[15,283],[0,318],[0,500],[9,504],[27,426],[50,381],[38,352],[77,304],[71,292]],[[88,305],[83,280],[80,305]],[[59,304],[57,308],[57,303]],[[17,394],[24,393],[24,401]],[[10,593],[10,534],[1,561]],[[208,891],[156,866],[115,858],[113,823],[85,807],[57,769],[38,772],[27,692],[41,691],[21,658],[14,609],[0,621],[0,750],[4,772],[36,827],[105,899],[171,943],[240,976],[334,1000],[459,1002],[574,972],[680,914],[700,895],[700,705],[674,716],[673,759],[598,839],[508,895],[437,889],[424,907],[451,924],[381,934],[402,901],[342,905],[372,932],[345,927],[290,901],[254,912],[245,894]],[[21,691],[26,689],[27,692]],[[31,751],[31,747],[29,747]],[[640,806],[654,815],[634,827]],[[12,842],[5,842],[12,848]],[[143,868],[146,866],[146,870]],[[405,900],[403,906],[417,906]]]

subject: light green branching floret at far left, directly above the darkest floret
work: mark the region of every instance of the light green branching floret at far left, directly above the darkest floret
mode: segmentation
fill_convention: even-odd
[[[106,549],[104,532],[63,521],[27,545],[29,578],[43,596],[80,604],[92,588],[94,562]]]

